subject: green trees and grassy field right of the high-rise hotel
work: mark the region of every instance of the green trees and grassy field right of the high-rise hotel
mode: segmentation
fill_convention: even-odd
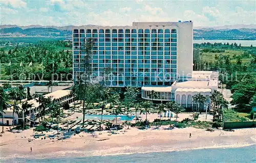
[[[256,95],[256,48],[209,42],[194,48],[194,70],[219,71],[219,80],[233,94],[231,104],[237,111],[250,112]]]

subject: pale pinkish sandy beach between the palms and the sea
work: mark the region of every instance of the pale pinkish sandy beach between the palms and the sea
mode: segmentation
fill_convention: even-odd
[[[44,132],[46,133],[46,132]],[[191,137],[189,137],[191,133]],[[68,156],[116,155],[159,151],[180,151],[200,148],[243,147],[256,143],[256,128],[236,129],[234,132],[184,128],[169,130],[168,126],[151,127],[147,130],[137,128],[123,129],[118,134],[109,135],[108,131],[91,133],[81,132],[70,138],[34,139],[33,129],[22,133],[6,131],[0,137],[0,156],[2,159],[13,157],[48,158]],[[50,134],[49,132],[47,134]],[[28,142],[28,139],[33,141]],[[32,147],[32,152],[30,151]]]

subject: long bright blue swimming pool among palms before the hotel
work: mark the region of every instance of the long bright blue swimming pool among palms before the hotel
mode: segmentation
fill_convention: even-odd
[[[116,115],[102,115],[102,120],[113,120],[116,118]],[[135,118],[135,115],[117,115],[117,118],[121,121],[132,121]],[[99,114],[86,114],[86,120],[101,120],[101,115]]]

